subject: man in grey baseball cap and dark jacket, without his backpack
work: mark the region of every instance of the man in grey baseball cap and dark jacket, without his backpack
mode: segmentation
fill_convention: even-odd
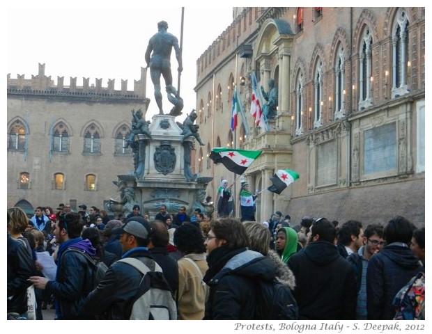
[[[155,271],[157,264],[147,248],[152,233],[148,221],[130,219],[121,228],[114,228],[112,233],[121,234],[122,259],[132,257]],[[99,319],[130,319],[142,277],[143,274],[132,265],[120,260],[114,262],[98,287],[88,294],[84,303],[85,312]]]

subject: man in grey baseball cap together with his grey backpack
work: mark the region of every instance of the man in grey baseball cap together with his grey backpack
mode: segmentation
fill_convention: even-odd
[[[130,220],[112,232],[121,234],[123,256],[88,294],[84,312],[98,319],[177,319],[169,284],[147,248],[150,224]]]

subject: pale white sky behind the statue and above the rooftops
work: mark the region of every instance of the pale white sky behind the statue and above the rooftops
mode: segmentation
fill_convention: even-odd
[[[88,1],[98,3],[100,1]],[[140,3],[141,2],[141,3]],[[115,89],[121,89],[121,80],[128,79],[128,90],[133,90],[134,80],[139,80],[141,67],[146,67],[144,54],[148,40],[157,33],[157,22],[168,22],[168,32],[180,43],[182,7],[179,1],[164,7],[148,7],[144,1],[118,1],[116,6],[103,2],[100,6],[84,6],[84,1],[72,5],[59,5],[59,1],[30,1],[13,3],[7,8],[6,73],[26,79],[38,74],[38,64],[45,63],[45,75],[57,84],[57,77],[64,77],[64,85],[70,77],[102,79],[107,87],[108,79],[115,79]],[[81,6],[79,6],[81,3]],[[102,2],[101,2],[102,3]],[[35,6],[37,4],[37,6]],[[67,6],[67,7],[66,7]],[[202,5],[201,5],[202,6]],[[180,77],[180,96],[184,100],[183,120],[196,106],[196,60],[233,21],[232,7],[185,6],[183,21],[183,72]],[[178,63],[171,53],[173,86],[178,86]],[[161,78],[161,83],[164,81]],[[164,93],[164,86],[162,86]],[[158,112],[154,89],[147,72],[146,95],[151,99],[147,120]],[[166,94],[164,112],[171,110]]]

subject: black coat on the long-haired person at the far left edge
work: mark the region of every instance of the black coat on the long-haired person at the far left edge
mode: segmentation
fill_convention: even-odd
[[[28,279],[34,273],[34,261],[24,244],[8,234],[8,313],[27,312]]]

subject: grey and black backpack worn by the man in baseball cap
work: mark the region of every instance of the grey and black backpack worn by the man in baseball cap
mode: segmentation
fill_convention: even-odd
[[[126,257],[117,262],[129,264],[143,274],[132,306],[130,320],[177,319],[176,301],[173,299],[171,289],[159,264],[155,262],[155,271],[151,271],[146,264],[133,257]]]

